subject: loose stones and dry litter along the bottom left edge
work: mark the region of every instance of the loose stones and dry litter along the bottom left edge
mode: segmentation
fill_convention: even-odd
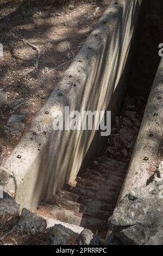
[[[61,224],[47,229],[46,220],[27,209],[20,215],[20,206],[9,194],[0,199],[0,245],[99,245],[91,230],[81,234]]]

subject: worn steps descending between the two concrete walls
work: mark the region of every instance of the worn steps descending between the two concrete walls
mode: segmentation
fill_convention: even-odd
[[[37,209],[37,215],[91,229],[105,238],[108,218],[112,215],[126,176],[129,161],[104,156],[80,171],[76,180],[52,195]]]

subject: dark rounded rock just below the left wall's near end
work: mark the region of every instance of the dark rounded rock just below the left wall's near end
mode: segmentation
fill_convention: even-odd
[[[47,223],[45,219],[35,215],[27,209],[23,209],[21,217],[15,227],[18,233],[29,233],[32,235],[45,233]]]

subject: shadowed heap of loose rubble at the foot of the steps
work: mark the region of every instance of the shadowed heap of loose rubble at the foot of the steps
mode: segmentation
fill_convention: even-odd
[[[131,157],[141,125],[146,100],[143,97],[127,96],[122,114],[116,117],[115,126],[108,139],[108,152],[122,157]]]

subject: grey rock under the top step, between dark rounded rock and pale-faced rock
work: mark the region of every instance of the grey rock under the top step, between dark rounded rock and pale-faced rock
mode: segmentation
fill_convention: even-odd
[[[51,245],[77,245],[78,233],[68,229],[61,224],[47,229],[48,239]]]

